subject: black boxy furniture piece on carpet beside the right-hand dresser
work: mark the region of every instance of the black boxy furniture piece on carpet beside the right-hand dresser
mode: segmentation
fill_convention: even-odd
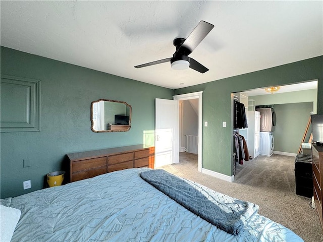
[[[307,198],[313,196],[312,156],[297,154],[295,159],[296,194]]]

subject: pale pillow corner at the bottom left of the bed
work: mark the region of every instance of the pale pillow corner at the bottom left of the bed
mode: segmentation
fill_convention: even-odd
[[[9,242],[11,240],[20,215],[19,209],[0,205],[0,241]]]

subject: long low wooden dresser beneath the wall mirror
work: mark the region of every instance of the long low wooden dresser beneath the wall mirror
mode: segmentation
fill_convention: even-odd
[[[128,168],[154,168],[155,148],[132,145],[67,154],[70,182]]]

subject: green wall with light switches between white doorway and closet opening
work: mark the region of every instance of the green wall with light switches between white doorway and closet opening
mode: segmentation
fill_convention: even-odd
[[[233,99],[231,93],[318,80],[317,113],[323,113],[323,56],[218,81],[174,90],[174,95],[203,91],[203,168],[232,175]],[[228,123],[222,128],[222,122]]]

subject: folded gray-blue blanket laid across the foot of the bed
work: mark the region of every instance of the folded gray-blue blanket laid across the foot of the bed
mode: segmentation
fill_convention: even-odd
[[[256,204],[215,192],[165,170],[143,171],[140,176],[186,209],[234,235],[243,231],[244,222],[259,208]]]

